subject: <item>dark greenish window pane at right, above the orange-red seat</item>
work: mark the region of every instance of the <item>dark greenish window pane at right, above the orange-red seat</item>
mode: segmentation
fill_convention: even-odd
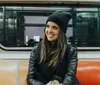
[[[74,37],[78,46],[98,46],[97,17],[97,9],[84,8],[76,14]]]

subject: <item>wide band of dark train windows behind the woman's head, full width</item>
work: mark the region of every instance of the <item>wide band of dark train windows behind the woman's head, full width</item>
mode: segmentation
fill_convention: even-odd
[[[0,43],[6,47],[37,45],[47,17],[56,10],[70,11],[66,35],[78,47],[100,47],[100,8],[72,6],[0,6]]]

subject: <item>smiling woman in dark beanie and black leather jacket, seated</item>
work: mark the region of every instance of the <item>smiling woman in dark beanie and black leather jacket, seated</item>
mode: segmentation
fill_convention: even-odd
[[[56,11],[46,21],[44,38],[31,52],[28,85],[73,85],[77,69],[77,50],[67,44],[65,35],[71,14]]]

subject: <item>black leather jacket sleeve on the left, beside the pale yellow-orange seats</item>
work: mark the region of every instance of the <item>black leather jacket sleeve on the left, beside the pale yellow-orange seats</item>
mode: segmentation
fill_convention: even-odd
[[[38,52],[37,50],[38,47],[35,50],[32,50],[30,54],[29,68],[28,68],[28,75],[27,75],[27,85],[45,85],[44,83],[35,79],[36,74],[41,76],[36,70],[36,64],[37,64],[36,52]]]

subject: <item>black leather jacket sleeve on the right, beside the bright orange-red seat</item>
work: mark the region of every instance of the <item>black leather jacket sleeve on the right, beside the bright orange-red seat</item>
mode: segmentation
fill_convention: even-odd
[[[65,75],[64,81],[62,85],[73,85],[74,78],[76,76],[77,70],[77,48],[71,46],[69,51],[69,64],[68,64],[68,72]]]

